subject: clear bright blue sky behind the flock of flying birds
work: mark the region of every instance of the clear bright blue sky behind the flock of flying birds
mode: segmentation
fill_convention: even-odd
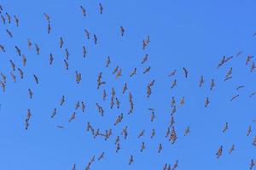
[[[103,14],[99,14],[98,4],[102,3]],[[50,1],[50,0],[8,0],[2,1],[3,15],[11,15],[11,24],[0,23],[0,44],[6,53],[0,52],[0,71],[7,76],[6,92],[0,92],[0,169],[7,170],[68,170],[76,163],[77,169],[84,169],[91,156],[105,152],[102,161],[95,161],[91,169],[162,169],[165,163],[173,164],[178,160],[178,169],[248,169],[251,159],[256,159],[253,147],[256,123],[256,97],[248,96],[256,91],[256,72],[250,73],[252,64],[246,63],[247,55],[256,52],[255,5],[253,0],[233,1]],[[86,9],[87,16],[81,13],[80,5]],[[52,31],[47,33],[47,21],[44,13],[49,14]],[[20,19],[16,27],[13,16]],[[119,26],[125,28],[124,37],[120,36]],[[96,34],[98,44],[87,40],[84,29]],[[7,35],[5,29],[12,31],[14,37]],[[143,50],[142,41],[150,36],[148,48]],[[59,48],[59,38],[64,40]],[[27,38],[32,41],[32,49],[27,48]],[[37,55],[34,44],[38,43]],[[87,48],[83,58],[82,47]],[[15,52],[15,46],[26,55],[26,67]],[[68,48],[69,70],[65,70],[65,48]],[[239,57],[236,54],[242,51]],[[49,54],[54,56],[53,65],[49,65]],[[141,64],[143,55],[148,61]],[[223,55],[234,59],[220,69],[216,69]],[[111,64],[105,67],[107,56]],[[18,71],[14,71],[17,82],[13,82],[9,59],[16,68],[24,71],[21,80]],[[253,59],[254,60],[254,59]],[[123,69],[122,77],[115,80],[113,69],[119,65]],[[148,74],[143,70],[151,66]],[[129,77],[137,67],[137,75]],[[186,67],[189,77],[183,76]],[[233,68],[230,81],[224,82],[227,71]],[[177,69],[175,77],[168,77],[170,71]],[[75,71],[82,73],[79,84],[75,82]],[[102,80],[106,81],[99,90],[96,78],[102,71]],[[32,75],[39,79],[37,85]],[[198,87],[200,77],[205,84]],[[210,91],[212,78],[216,87]],[[146,97],[148,82],[155,80],[152,95]],[[177,79],[177,87],[171,84]],[[122,94],[127,82],[135,104],[134,112],[129,111],[128,93]],[[244,85],[236,91],[236,88]],[[110,93],[114,87],[120,100],[120,109],[110,109]],[[33,91],[29,99],[27,89]],[[107,90],[107,100],[102,100],[102,90]],[[240,97],[230,102],[233,95]],[[66,103],[61,107],[61,96]],[[165,138],[166,127],[172,111],[171,99],[177,103],[185,97],[183,107],[177,107],[175,128],[177,141],[171,144]],[[210,104],[204,107],[209,97]],[[84,100],[86,111],[77,111],[76,119],[68,122],[78,100]],[[102,105],[105,116],[96,111],[96,102]],[[148,107],[155,109],[156,118],[150,122]],[[57,109],[55,119],[50,116]],[[30,109],[32,117],[28,130],[24,122],[26,111]],[[120,113],[124,120],[113,127]],[[86,123],[93,127],[112,128],[113,135],[107,142],[102,138],[92,139],[86,132]],[[222,133],[224,123],[229,122],[230,129]],[[57,128],[62,125],[65,128]],[[247,137],[247,127],[253,132]],[[123,127],[128,126],[128,139],[120,136],[121,149],[115,153],[114,140]],[[190,133],[184,137],[186,127]],[[150,139],[151,130],[156,136]],[[145,135],[137,135],[145,129]],[[140,144],[145,142],[146,149],[141,153]],[[163,145],[160,154],[158,144]],[[232,144],[236,150],[228,151]],[[216,159],[220,145],[224,146],[223,156]],[[130,156],[134,163],[128,166]]]

